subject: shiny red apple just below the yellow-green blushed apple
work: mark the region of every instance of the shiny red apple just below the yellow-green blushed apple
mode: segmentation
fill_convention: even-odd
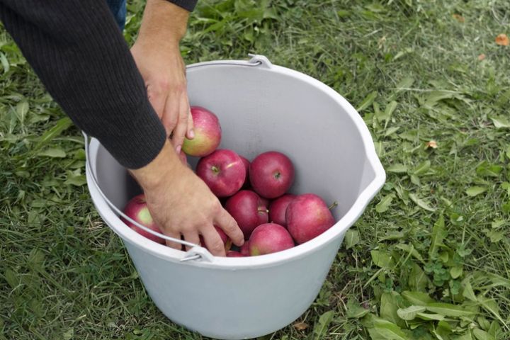
[[[196,174],[217,197],[226,197],[234,195],[242,187],[246,169],[238,154],[232,150],[217,149],[200,158]]]

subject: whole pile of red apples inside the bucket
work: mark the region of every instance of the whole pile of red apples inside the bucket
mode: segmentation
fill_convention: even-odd
[[[191,107],[195,130],[193,140],[185,139],[181,161],[186,155],[200,157],[196,174],[222,201],[244,234],[244,245],[231,249],[232,242],[219,227],[229,257],[271,254],[302,244],[322,234],[335,220],[324,200],[313,193],[288,193],[295,169],[281,152],[263,152],[251,162],[231,149],[217,149],[221,125],[217,116],[205,108]],[[126,215],[154,231],[161,232],[150,216],[143,194],[125,206]],[[124,222],[154,242],[164,239]],[[204,242],[201,242],[204,244]]]

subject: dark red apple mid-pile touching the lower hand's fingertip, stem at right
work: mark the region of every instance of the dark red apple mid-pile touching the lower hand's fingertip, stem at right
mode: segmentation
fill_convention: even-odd
[[[268,222],[267,206],[263,205],[260,196],[254,191],[238,191],[227,200],[225,210],[236,220],[244,234],[244,239],[249,239],[249,235],[257,225]]]

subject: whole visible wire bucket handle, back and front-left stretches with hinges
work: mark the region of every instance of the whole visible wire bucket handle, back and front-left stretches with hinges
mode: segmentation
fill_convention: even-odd
[[[260,67],[265,67],[265,68],[271,68],[271,66],[272,66],[271,62],[269,62],[269,60],[263,55],[249,54],[249,56],[251,57],[251,59],[248,62],[238,61],[238,60],[225,60],[222,62],[202,62],[202,63],[194,64],[192,67],[200,67],[200,66],[206,66],[206,65],[210,65],[210,64],[234,64],[234,65],[239,65],[239,66],[251,66],[251,67],[260,66]],[[191,67],[188,67],[188,68],[191,68]],[[103,200],[105,200],[108,207],[110,207],[113,211],[117,212],[118,215],[120,215],[120,217],[123,217],[125,220],[128,220],[133,225],[139,227],[142,230],[145,230],[149,234],[152,234],[157,237],[161,237],[162,239],[166,239],[167,241],[182,244],[184,246],[191,246],[191,249],[186,251],[186,256],[184,256],[180,260],[181,262],[191,261],[191,260],[199,260],[199,259],[209,261],[209,262],[213,261],[214,256],[212,256],[212,254],[210,254],[208,249],[205,249],[203,246],[200,246],[199,244],[194,244],[191,242],[183,241],[182,239],[175,239],[174,237],[169,237],[169,236],[166,236],[159,232],[154,232],[154,230],[149,229],[149,228],[145,227],[144,225],[141,225],[140,223],[133,220],[131,217],[128,217],[127,215],[125,215],[125,213],[122,212],[122,210],[120,210],[113,203],[111,203],[111,200],[109,200],[108,197],[106,197],[106,195],[101,190],[101,188],[98,184],[98,181],[96,179],[96,174],[94,173],[94,171],[92,171],[92,167],[90,164],[91,157],[89,154],[89,136],[86,135],[86,133],[83,131],[81,133],[84,135],[84,141],[85,141],[86,170],[89,171],[89,174],[91,174],[91,180],[94,183],[94,186],[96,186],[96,188],[99,192],[99,195],[101,195]]]

